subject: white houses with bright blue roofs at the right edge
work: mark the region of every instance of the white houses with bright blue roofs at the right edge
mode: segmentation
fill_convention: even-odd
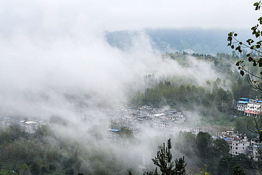
[[[237,101],[237,110],[244,112],[244,115],[247,116],[260,116],[262,114],[262,100],[259,98],[250,99],[250,98],[240,98]]]

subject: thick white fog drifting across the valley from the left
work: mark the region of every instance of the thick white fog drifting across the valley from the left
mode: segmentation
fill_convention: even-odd
[[[66,124],[53,123],[52,131],[61,139],[80,142],[83,169],[92,169],[93,162],[87,157],[95,151],[107,157],[104,161],[112,161],[108,159],[111,155],[124,167],[134,168],[142,152],[155,152],[168,135],[161,137],[163,133],[148,129],[132,144],[105,143],[90,133],[90,127],[100,125],[98,130],[103,133],[107,116],[97,113],[95,119],[87,115],[83,120],[82,111],[76,112],[68,102],[83,100],[83,112],[90,113],[97,107],[127,104],[134,92],[147,87],[143,80],[146,74],[191,77],[197,85],[223,75],[212,64],[193,57],[187,58],[187,67],[163,57],[153,49],[154,43],[143,30],[133,36],[130,47],[112,47],[99,21],[86,16],[81,5],[77,12],[67,3],[49,1],[48,6],[43,1],[26,1],[25,8],[15,1],[4,3],[11,11],[6,8],[2,13],[8,18],[1,17],[5,25],[0,28],[0,115],[46,121],[59,116]],[[56,144],[53,137],[48,139],[50,144]]]

